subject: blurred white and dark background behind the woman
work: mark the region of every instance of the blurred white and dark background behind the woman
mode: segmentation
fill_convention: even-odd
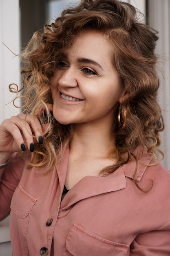
[[[17,56],[33,33],[51,23],[61,11],[77,0],[0,0],[0,123],[20,110],[11,102],[15,96],[9,84],[20,87],[20,60]],[[162,164],[170,169],[170,0],[124,0],[147,17],[148,25],[159,31],[157,55],[160,60],[159,104],[166,129],[162,132]],[[10,50],[9,50],[9,49]],[[11,103],[10,103],[11,102]],[[20,104],[18,101],[17,104]],[[11,256],[9,219],[0,223],[0,255]]]

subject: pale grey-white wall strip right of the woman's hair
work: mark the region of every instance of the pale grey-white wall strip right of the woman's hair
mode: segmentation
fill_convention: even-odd
[[[148,4],[150,25],[159,31],[156,49],[161,78],[159,104],[165,121],[165,130],[161,134],[165,153],[162,164],[170,170],[170,0],[148,0]]]

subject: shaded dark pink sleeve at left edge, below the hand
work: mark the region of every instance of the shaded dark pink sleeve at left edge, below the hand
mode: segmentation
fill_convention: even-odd
[[[10,213],[11,199],[24,168],[24,160],[19,153],[14,153],[10,160],[11,162],[4,169],[0,181],[0,221]]]

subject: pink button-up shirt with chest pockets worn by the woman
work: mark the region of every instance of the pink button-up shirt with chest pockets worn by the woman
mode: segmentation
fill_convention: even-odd
[[[10,213],[13,256],[169,256],[170,172],[144,154],[106,177],[86,176],[64,197],[68,149],[49,173],[16,154],[0,183],[0,218]],[[14,192],[15,191],[15,192]]]

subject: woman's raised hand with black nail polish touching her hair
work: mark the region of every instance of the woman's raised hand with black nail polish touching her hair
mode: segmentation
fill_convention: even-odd
[[[48,105],[49,110],[52,111],[52,105]],[[0,155],[4,156],[3,159],[7,159],[7,155],[16,151],[29,149],[32,152],[35,142],[43,143],[43,130],[38,117],[33,117],[31,114],[27,116],[19,114],[5,119],[0,125]]]

